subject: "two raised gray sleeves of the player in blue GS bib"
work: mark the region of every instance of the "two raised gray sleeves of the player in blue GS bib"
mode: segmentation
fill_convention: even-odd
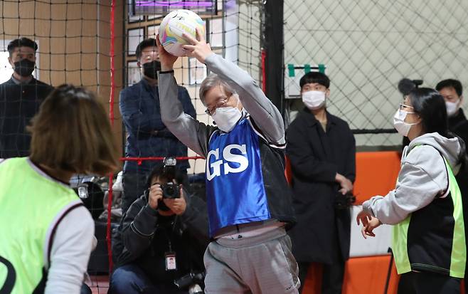
[[[262,135],[273,144],[284,145],[284,122],[275,105],[265,96],[250,75],[234,63],[213,53],[206,58],[206,66],[220,76],[239,95],[240,102],[255,120]],[[159,74],[159,102],[164,125],[188,148],[206,157],[208,139],[216,127],[198,122],[184,113],[177,99],[174,74]]]

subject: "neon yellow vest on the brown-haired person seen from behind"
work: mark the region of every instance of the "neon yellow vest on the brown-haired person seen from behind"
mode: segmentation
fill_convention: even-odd
[[[43,175],[26,157],[0,163],[1,293],[32,293],[46,278],[48,229],[80,203],[73,189]]]

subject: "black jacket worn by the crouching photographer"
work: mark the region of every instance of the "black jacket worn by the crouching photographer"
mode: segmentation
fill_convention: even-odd
[[[209,242],[206,204],[196,196],[186,196],[186,201],[184,214],[169,217],[151,209],[144,195],[134,201],[112,242],[117,267],[133,263],[156,284],[172,284],[190,271],[204,271],[203,253]],[[166,271],[169,239],[177,271]]]

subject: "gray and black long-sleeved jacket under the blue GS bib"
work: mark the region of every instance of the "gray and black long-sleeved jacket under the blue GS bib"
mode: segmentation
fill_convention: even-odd
[[[294,224],[295,218],[291,191],[284,177],[284,123],[280,112],[265,96],[255,80],[234,63],[213,53],[206,58],[206,66],[235,90],[245,110],[243,115],[246,115],[246,112],[250,114],[252,131],[258,135],[260,153],[260,160],[252,164],[260,164],[270,218],[287,224],[289,228]],[[187,147],[206,157],[210,137],[218,128],[198,122],[184,113],[177,99],[174,73],[159,74],[159,103],[164,125]],[[246,132],[245,136],[250,136],[249,132]],[[216,198],[217,195],[207,195],[207,197],[208,211],[210,211],[210,205],[213,204],[210,199]],[[223,205],[228,204],[223,202]],[[225,228],[232,229],[230,226]]]

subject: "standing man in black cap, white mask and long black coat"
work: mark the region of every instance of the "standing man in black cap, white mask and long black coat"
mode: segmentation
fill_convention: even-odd
[[[320,263],[321,293],[341,293],[351,238],[356,142],[349,125],[326,111],[329,78],[310,72],[299,84],[305,107],[286,133],[297,216],[289,232],[292,252],[302,285],[311,263]]]

